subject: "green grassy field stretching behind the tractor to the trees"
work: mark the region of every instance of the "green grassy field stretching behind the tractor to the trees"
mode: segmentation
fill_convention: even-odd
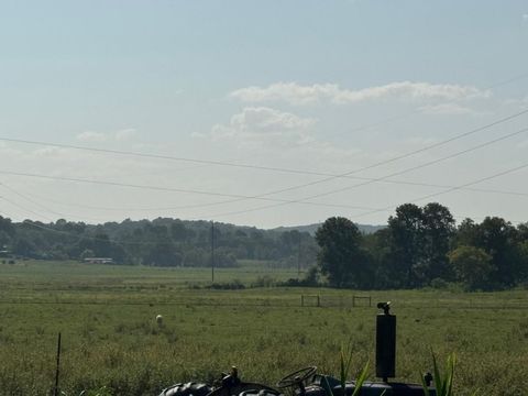
[[[296,271],[244,263],[217,270],[219,283],[284,280]],[[392,300],[398,317],[397,380],[419,382],[430,349],[457,352],[460,395],[528,393],[528,293],[353,292],[260,287],[213,290],[210,270],[78,263],[0,265],[0,393],[50,395],[56,338],[63,336],[61,388],[66,395],[103,386],[112,395],[157,395],[167,385],[210,381],[231,365],[273,385],[307,365],[338,374],[352,344],[353,367],[374,367],[377,310]],[[319,295],[316,299],[301,296]],[[373,304],[374,305],[374,304]],[[163,315],[158,327],[156,315]],[[374,372],[374,369],[372,369]],[[374,378],[374,374],[371,375]]]

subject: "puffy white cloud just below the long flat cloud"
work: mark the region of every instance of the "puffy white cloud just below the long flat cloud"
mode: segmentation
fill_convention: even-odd
[[[311,141],[310,127],[315,119],[301,118],[289,112],[248,107],[231,117],[228,125],[212,127],[213,140],[237,140],[239,144],[293,146]]]

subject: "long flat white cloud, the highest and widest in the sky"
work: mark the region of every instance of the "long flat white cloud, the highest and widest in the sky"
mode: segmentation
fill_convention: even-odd
[[[302,86],[297,82],[276,82],[268,87],[246,87],[230,94],[231,98],[243,102],[282,101],[296,106],[322,101],[346,105],[385,99],[407,101],[458,100],[488,98],[490,96],[490,91],[483,91],[472,86],[413,81],[397,81],[359,90],[343,89],[337,84]]]

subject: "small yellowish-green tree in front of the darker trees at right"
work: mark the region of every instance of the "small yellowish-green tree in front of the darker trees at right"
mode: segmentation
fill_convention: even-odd
[[[464,283],[470,290],[490,287],[493,273],[492,256],[483,249],[462,245],[449,253],[457,279]]]

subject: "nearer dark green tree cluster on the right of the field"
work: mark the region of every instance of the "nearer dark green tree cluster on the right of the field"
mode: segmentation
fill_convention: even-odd
[[[459,283],[474,290],[526,285],[528,222],[498,217],[458,227],[449,209],[431,202],[402,205],[387,227],[362,234],[345,218],[329,218],[316,232],[318,270],[330,286],[420,288]]]

